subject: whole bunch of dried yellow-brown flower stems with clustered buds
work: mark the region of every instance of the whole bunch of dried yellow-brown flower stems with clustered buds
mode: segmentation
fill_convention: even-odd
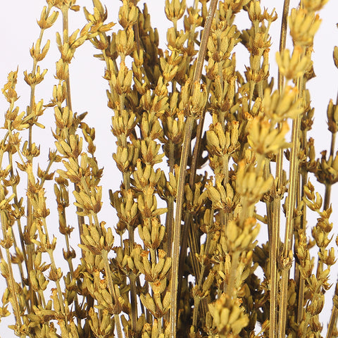
[[[30,49],[32,71],[24,72],[25,111],[16,106],[18,70],[4,84],[0,268],[7,287],[0,316],[13,311],[18,337],[321,337],[318,315],[325,300],[332,302],[325,292],[336,262],[330,192],[338,181],[338,102],[327,107],[330,153],[315,158],[307,82],[318,11],[327,0],[303,0],[290,11],[284,1],[275,88],[274,10],[257,0],[165,0],[170,27],[163,51],[146,6],[137,2],[121,1],[113,27],[107,8],[93,0],[94,8],[83,8],[87,23],[70,32],[69,11],[80,6],[46,0]],[[107,6],[116,10],[118,3]],[[241,11],[247,29],[234,24]],[[45,104],[37,99],[46,74],[39,63],[50,46],[44,32],[58,16],[60,58]],[[292,50],[285,49],[287,30]],[[117,223],[101,219],[109,187],[100,185],[95,130],[71,104],[70,63],[84,43],[99,50],[105,67],[111,151],[122,181],[110,192]],[[237,70],[238,44],[249,51],[244,74]],[[333,55],[338,67],[338,47]],[[55,118],[48,163],[39,161],[34,142],[45,111]],[[324,184],[324,198],[308,173]],[[47,180],[54,180],[58,239],[50,234]],[[66,217],[72,199],[77,224]],[[318,215],[314,225],[307,209]],[[71,246],[75,228],[80,259]],[[266,244],[258,244],[260,231],[268,232]],[[68,269],[56,249],[62,237]],[[327,337],[338,337],[337,314],[338,285]]]

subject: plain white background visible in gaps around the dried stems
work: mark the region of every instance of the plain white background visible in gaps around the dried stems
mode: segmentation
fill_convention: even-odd
[[[29,104],[30,88],[25,84],[23,80],[23,71],[28,70],[30,73],[32,69],[32,58],[30,57],[29,49],[33,42],[36,42],[39,36],[39,27],[36,20],[39,19],[42,7],[45,6],[43,0],[12,0],[1,1],[0,11],[0,27],[1,27],[1,51],[0,51],[0,87],[6,83],[6,77],[9,71],[15,70],[19,67],[18,72],[18,86],[17,91],[20,96],[18,105],[20,111],[25,110],[25,107]],[[142,2],[139,1],[139,6],[143,8]],[[189,1],[187,1],[189,3]],[[266,6],[269,12],[276,6],[278,15],[282,13],[283,1],[261,1],[262,8]],[[160,32],[160,46],[165,49],[165,31],[167,27],[170,27],[171,23],[165,18],[164,4],[165,1],[150,0],[147,1],[149,7],[149,13],[151,14],[151,23],[153,27],[158,27]],[[78,5],[86,6],[89,12],[92,11],[92,1],[83,0],[78,1]],[[109,19],[117,23],[118,8],[120,1],[117,0],[102,0],[102,4],[106,4],[108,8]],[[292,1],[291,7],[297,6],[298,1]],[[313,136],[316,139],[316,150],[318,156],[323,149],[330,148],[330,132],[327,131],[327,118],[326,107],[330,99],[336,100],[338,81],[338,70],[334,68],[332,61],[332,50],[335,44],[338,44],[338,30],[335,24],[338,22],[338,3],[331,0],[327,4],[323,11],[320,12],[320,17],[323,18],[323,23],[320,26],[318,35],[315,38],[314,44],[314,67],[317,77],[308,82],[308,87],[311,89],[311,100],[315,107],[315,123],[313,130],[309,132],[309,136]],[[239,29],[249,28],[249,20],[246,13],[241,13],[236,21]],[[70,12],[70,32],[77,28],[81,28],[86,24],[83,11]],[[119,29],[117,24],[113,27],[114,31]],[[46,39],[51,40],[51,48],[49,54],[42,63],[39,63],[42,69],[48,68],[49,71],[46,75],[46,80],[37,86],[36,101],[44,99],[44,103],[47,104],[51,99],[51,93],[53,85],[56,84],[54,79],[55,62],[58,60],[59,53],[55,43],[56,30],[61,32],[61,15],[59,15],[56,25],[51,29],[46,30],[44,35],[42,46],[46,42]],[[275,51],[277,51],[279,42],[279,30],[280,20],[273,23],[271,27],[271,35],[273,37],[270,59],[275,61]],[[290,46],[290,44],[289,44]],[[240,70],[244,70],[244,65],[249,65],[248,54],[242,46],[237,48],[237,64]],[[96,128],[96,158],[99,162],[99,166],[104,166],[104,178],[101,181],[104,187],[104,207],[100,214],[100,220],[105,220],[112,227],[115,224],[115,213],[108,203],[108,189],[118,189],[120,185],[120,173],[115,169],[115,163],[111,157],[115,149],[115,139],[111,134],[111,113],[112,111],[107,108],[106,99],[106,80],[102,78],[104,74],[104,63],[92,57],[92,54],[96,54],[98,51],[87,42],[80,49],[77,50],[75,58],[70,65],[70,80],[73,99],[73,111],[77,113],[83,113],[88,111],[89,114],[85,119],[91,127]],[[275,83],[277,82],[277,68],[275,64],[270,68],[270,75],[275,77]],[[4,96],[0,96],[0,126],[4,122],[4,113],[8,108],[7,102]],[[35,128],[33,132],[34,142],[41,144],[42,156],[40,162],[44,163],[46,160],[46,154],[48,154],[49,148],[54,149],[54,139],[51,137],[51,128],[53,125],[54,113],[52,109],[47,109],[44,116],[39,120],[46,128],[40,130]],[[4,132],[4,131],[3,131]],[[2,133],[3,133],[2,132]],[[0,130],[0,137],[3,135]],[[42,169],[43,166],[42,166]],[[310,175],[311,181],[315,183],[315,179]],[[47,184],[47,189],[53,192],[52,184]],[[316,186],[317,188],[317,186]],[[323,187],[319,186],[320,193],[323,192]],[[23,194],[25,192],[23,191]],[[48,205],[51,211],[55,209],[55,198],[53,194],[48,194]],[[332,189],[331,201],[337,204],[337,189]],[[68,220],[70,216],[68,215]],[[334,223],[334,232],[337,232],[337,212],[334,211],[332,215],[332,222]],[[315,225],[315,218],[309,221],[309,226]],[[57,234],[58,222],[57,218],[51,214],[49,216],[49,227],[51,232]],[[262,231],[263,230],[262,228]],[[76,234],[76,231],[75,231]],[[283,235],[284,236],[284,235]],[[335,237],[334,237],[335,238]],[[74,249],[77,243],[76,236],[74,237]],[[58,249],[60,249],[60,262],[61,261],[61,248],[64,243],[63,239],[59,240]],[[334,240],[332,245],[335,246]],[[336,248],[337,249],[337,248]],[[337,253],[338,256],[338,253]],[[337,270],[331,275],[332,283],[337,280]],[[2,277],[0,277],[1,289],[4,289],[5,283]],[[332,287],[333,291],[334,287]],[[327,302],[325,309],[321,315],[323,323],[327,323],[330,317],[330,310],[332,308],[332,300],[329,293],[326,294]],[[5,318],[0,323],[0,335],[1,337],[14,337],[13,332],[8,332],[7,325],[13,323],[13,318]],[[326,330],[326,324],[324,325]]]

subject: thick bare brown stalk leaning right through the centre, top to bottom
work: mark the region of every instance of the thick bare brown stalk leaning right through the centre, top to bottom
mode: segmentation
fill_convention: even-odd
[[[201,80],[202,68],[204,63],[204,57],[206,55],[206,46],[208,43],[208,37],[211,30],[211,23],[213,16],[215,15],[215,9],[218,0],[211,0],[209,7],[208,17],[206,18],[206,25],[201,39],[201,46],[199,49],[199,56],[196,61],[196,69],[194,73],[194,82]],[[173,262],[172,262],[172,275],[171,275],[171,287],[170,287],[170,337],[176,338],[177,333],[177,290],[178,290],[178,271],[180,262],[180,235],[181,235],[181,219],[182,219],[182,204],[184,199],[184,184],[187,168],[187,161],[189,156],[190,142],[192,139],[192,127],[194,125],[194,117],[188,116],[187,123],[184,130],[183,149],[180,161],[180,172],[178,175],[178,187],[177,187],[177,207],[174,223],[173,234]]]

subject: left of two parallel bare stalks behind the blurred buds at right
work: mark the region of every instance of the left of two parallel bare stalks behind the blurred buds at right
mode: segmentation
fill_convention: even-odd
[[[285,49],[287,40],[287,15],[289,14],[289,0],[284,0],[282,24],[280,27],[280,53]],[[284,76],[278,68],[278,90],[282,93],[284,87]],[[280,124],[278,128],[280,129]],[[276,177],[277,177],[277,191],[282,187],[282,173],[283,173],[283,150],[280,149],[276,156]],[[271,276],[271,289],[270,289],[270,338],[277,338],[277,295],[278,295],[278,270],[277,270],[277,256],[280,251],[280,197],[276,197],[272,203],[272,223],[270,233],[272,238],[270,242],[270,276]]]

